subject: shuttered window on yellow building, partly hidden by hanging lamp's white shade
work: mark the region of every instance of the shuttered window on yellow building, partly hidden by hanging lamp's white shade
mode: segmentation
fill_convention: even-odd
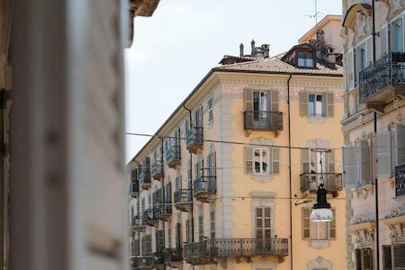
[[[330,222],[313,222],[310,220],[311,208],[302,208],[302,238],[308,240],[327,240],[336,238],[335,209],[334,219]]]

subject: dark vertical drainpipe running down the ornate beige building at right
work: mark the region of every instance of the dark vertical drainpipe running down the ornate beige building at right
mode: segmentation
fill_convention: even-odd
[[[375,62],[375,0],[372,1],[372,20],[373,20],[373,62]],[[390,50],[390,48],[388,48]],[[377,136],[377,112],[374,111],[374,143]],[[377,177],[377,159],[374,151],[374,185],[375,185],[375,245],[377,257],[377,270],[380,270],[380,218],[378,213],[378,177]]]

